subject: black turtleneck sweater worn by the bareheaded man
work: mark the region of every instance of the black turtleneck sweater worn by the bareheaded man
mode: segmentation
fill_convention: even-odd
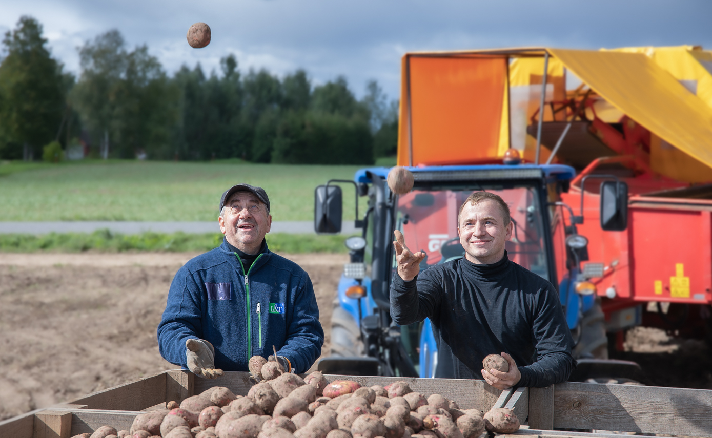
[[[573,339],[552,284],[511,262],[464,257],[434,265],[405,282],[396,272],[390,292],[396,324],[429,318],[438,343],[436,378],[481,379],[482,360],[502,351],[522,375],[516,385],[567,380]]]

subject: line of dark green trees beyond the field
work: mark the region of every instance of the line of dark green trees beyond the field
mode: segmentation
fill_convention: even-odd
[[[183,65],[171,77],[116,30],[78,49],[75,77],[42,32],[23,16],[2,41],[1,159],[58,159],[78,144],[121,159],[372,164],[395,154],[397,102],[375,80],[358,100],[343,77],[314,85],[305,70],[242,73],[232,54],[219,73]]]

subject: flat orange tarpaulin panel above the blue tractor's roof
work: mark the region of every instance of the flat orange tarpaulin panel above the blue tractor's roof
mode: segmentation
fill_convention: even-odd
[[[507,59],[405,55],[398,164],[498,156]]]

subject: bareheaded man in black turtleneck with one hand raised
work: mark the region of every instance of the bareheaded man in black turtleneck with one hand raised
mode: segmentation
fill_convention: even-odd
[[[410,252],[396,231],[397,274],[391,316],[397,324],[429,318],[438,344],[435,377],[478,378],[495,388],[565,381],[573,340],[553,285],[507,258],[514,224],[502,198],[475,192],[461,205],[458,233],[465,257],[419,273],[423,252]],[[501,353],[509,371],[483,370]]]

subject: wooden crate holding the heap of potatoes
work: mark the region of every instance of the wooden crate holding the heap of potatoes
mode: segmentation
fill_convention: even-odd
[[[169,370],[115,388],[95,392],[68,404],[28,412],[0,422],[0,438],[69,438],[93,432],[104,424],[129,429],[141,411],[210,388],[225,386],[246,395],[249,373],[225,373],[216,380],[195,378],[184,370]],[[326,375],[329,381],[356,380],[362,386],[405,380],[412,390],[437,392],[462,409],[487,411],[510,407],[528,426],[513,437],[620,438],[619,434],[568,432],[553,429],[598,429],[645,434],[712,437],[712,390],[632,385],[560,383],[547,388],[501,391],[483,380],[385,378]],[[513,438],[512,437],[512,438]]]

